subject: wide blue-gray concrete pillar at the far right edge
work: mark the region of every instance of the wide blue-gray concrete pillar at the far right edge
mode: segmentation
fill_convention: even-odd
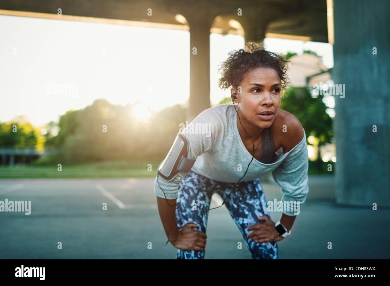
[[[336,202],[379,209],[390,206],[390,2],[333,1],[332,78],[345,84],[335,96]]]

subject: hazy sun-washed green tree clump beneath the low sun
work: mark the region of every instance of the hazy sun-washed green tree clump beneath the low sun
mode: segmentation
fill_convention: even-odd
[[[143,122],[133,116],[135,108],[136,104],[113,105],[98,99],[84,109],[67,111],[60,116],[58,134],[46,134],[46,147],[57,150],[53,160],[67,163],[162,160],[179,131],[179,123],[185,123],[186,109],[174,105]],[[55,126],[51,124],[51,128]]]

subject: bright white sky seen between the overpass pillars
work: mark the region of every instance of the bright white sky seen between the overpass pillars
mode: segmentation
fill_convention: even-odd
[[[42,125],[97,98],[158,111],[190,96],[189,31],[1,15],[0,26],[7,27],[0,30],[0,122],[26,115]],[[331,44],[266,38],[265,45],[278,53],[311,49],[333,67]],[[211,104],[230,95],[217,87],[218,65],[243,46],[242,36],[210,35]],[[73,93],[56,95],[58,84]]]

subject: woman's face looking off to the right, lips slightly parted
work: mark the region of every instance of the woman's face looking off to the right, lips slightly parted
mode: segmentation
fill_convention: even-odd
[[[246,74],[241,82],[241,93],[232,88],[231,94],[237,93],[234,102],[238,104],[246,123],[268,128],[278,114],[281,89],[282,84],[276,70],[257,68]],[[260,114],[265,111],[271,111],[272,114]]]

